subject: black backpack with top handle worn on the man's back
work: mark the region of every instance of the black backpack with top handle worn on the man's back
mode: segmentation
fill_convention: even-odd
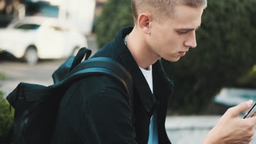
[[[86,54],[87,53],[87,54]],[[81,63],[86,55],[84,62]],[[113,59],[88,59],[91,51],[82,48],[53,74],[54,85],[42,86],[21,82],[7,96],[14,107],[14,124],[5,143],[50,143],[59,104],[65,90],[77,79],[91,75],[107,75],[118,80],[132,94],[131,75]]]

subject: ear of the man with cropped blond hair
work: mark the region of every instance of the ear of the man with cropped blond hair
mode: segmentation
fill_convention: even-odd
[[[144,33],[150,34],[152,25],[152,15],[148,13],[142,13],[138,16],[138,27],[144,31]]]

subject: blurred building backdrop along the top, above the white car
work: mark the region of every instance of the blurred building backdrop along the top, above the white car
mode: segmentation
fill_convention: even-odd
[[[88,35],[92,31],[95,7],[96,0],[0,0],[0,26],[25,16],[56,17]]]

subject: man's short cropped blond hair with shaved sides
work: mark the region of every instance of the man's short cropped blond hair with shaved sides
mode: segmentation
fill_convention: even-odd
[[[135,20],[141,11],[149,10],[158,21],[171,17],[176,4],[184,4],[193,8],[207,7],[207,0],[131,0],[132,13]]]

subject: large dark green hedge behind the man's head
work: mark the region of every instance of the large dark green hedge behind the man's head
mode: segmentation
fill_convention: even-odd
[[[164,61],[176,85],[170,103],[173,112],[198,113],[220,88],[242,86],[238,79],[256,64],[255,7],[254,0],[208,1],[196,32],[197,47],[178,62]],[[99,46],[128,25],[133,25],[130,1],[109,0],[96,23]]]

